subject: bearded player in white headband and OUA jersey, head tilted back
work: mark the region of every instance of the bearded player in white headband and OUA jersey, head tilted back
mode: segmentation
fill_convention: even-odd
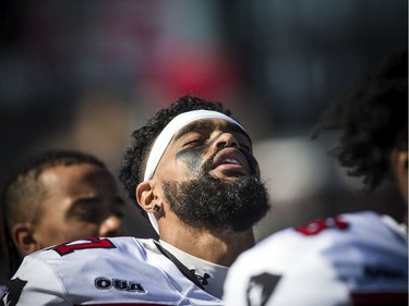
[[[220,305],[269,198],[252,142],[221,105],[181,97],[132,135],[120,179],[159,234],[80,240],[27,256],[3,303]]]

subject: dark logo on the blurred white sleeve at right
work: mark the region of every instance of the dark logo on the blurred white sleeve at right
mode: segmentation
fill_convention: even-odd
[[[260,276],[252,277],[250,279],[246,292],[248,305],[265,305],[280,278],[280,276],[269,273],[262,273]]]

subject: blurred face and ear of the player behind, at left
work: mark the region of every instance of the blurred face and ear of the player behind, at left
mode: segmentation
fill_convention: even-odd
[[[38,180],[46,191],[41,218],[11,229],[22,256],[81,237],[122,234],[124,204],[107,170],[88,163],[55,166]]]

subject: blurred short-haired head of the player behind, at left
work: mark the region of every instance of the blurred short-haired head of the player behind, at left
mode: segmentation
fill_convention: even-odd
[[[12,270],[37,249],[122,233],[116,181],[100,160],[84,152],[31,157],[5,181],[1,203]]]

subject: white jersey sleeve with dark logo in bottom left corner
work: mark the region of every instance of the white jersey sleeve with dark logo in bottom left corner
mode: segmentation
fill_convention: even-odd
[[[72,305],[67,301],[65,290],[55,271],[39,258],[24,258],[9,282],[2,297],[3,305]]]

